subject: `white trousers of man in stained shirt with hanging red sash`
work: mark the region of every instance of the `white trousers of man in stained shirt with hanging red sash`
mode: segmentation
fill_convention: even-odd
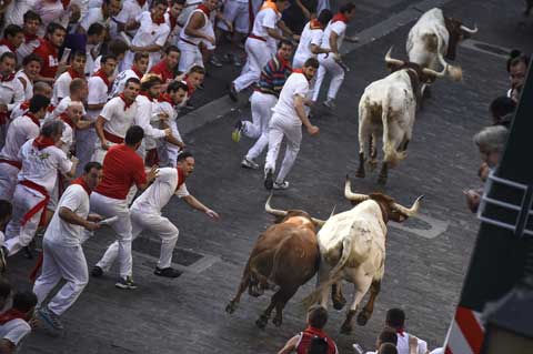
[[[22,225],[22,219],[27,212],[42,200],[44,200],[44,196],[41,193],[30,190],[21,184],[17,184],[12,201],[13,218],[6,227],[6,247],[9,251],[9,255],[16,254],[20,249],[29,245],[31,240],[33,240],[37,227],[39,227],[39,222],[41,221],[41,214],[44,212],[46,208],[31,216],[24,225]]]

